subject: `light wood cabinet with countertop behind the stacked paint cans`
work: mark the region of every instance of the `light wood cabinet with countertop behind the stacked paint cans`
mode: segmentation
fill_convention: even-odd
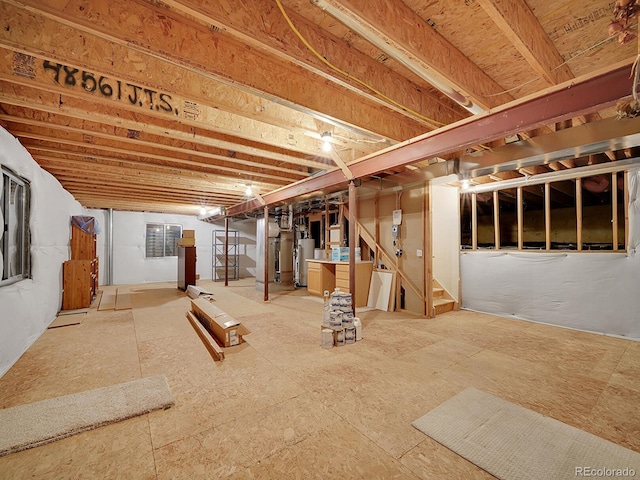
[[[342,292],[352,293],[349,289],[349,263],[324,260],[308,260],[307,263],[307,291],[311,295],[321,297],[325,290],[333,292],[336,287]],[[367,305],[372,270],[371,262],[356,262],[356,307]]]

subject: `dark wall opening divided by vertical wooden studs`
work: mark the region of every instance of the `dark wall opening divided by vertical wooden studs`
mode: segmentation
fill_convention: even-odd
[[[485,184],[486,185],[486,184]],[[613,251],[627,248],[624,172],[460,195],[463,250]]]

